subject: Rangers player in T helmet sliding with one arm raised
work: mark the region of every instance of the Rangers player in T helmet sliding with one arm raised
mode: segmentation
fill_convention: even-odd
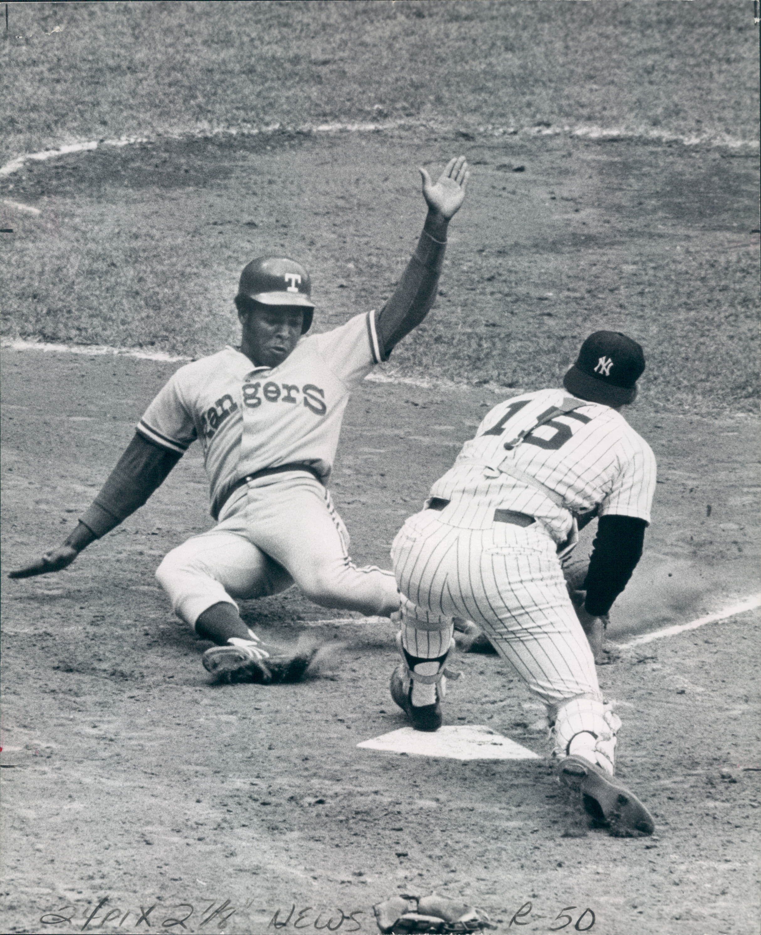
[[[223,681],[270,682],[273,663],[241,619],[236,598],[296,583],[323,607],[388,616],[394,575],[356,568],[326,483],[352,389],[420,324],[437,295],[447,227],[466,193],[467,163],[452,159],[435,183],[424,168],[423,233],[394,295],[309,335],[309,275],[284,257],[245,266],[236,296],[239,348],[179,370],[151,402],[136,435],[63,545],[11,578],[60,571],[142,506],[198,439],[217,525],[166,555],[156,572],[178,616],[216,645],[203,656]],[[296,660],[298,676],[309,658]]]

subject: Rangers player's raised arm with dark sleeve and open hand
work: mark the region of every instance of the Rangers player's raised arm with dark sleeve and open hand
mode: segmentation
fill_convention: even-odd
[[[434,304],[444,262],[447,229],[465,200],[470,173],[465,156],[451,159],[435,182],[421,168],[423,196],[428,206],[417,250],[399,280],[394,295],[378,315],[378,333],[384,356],[420,324]]]

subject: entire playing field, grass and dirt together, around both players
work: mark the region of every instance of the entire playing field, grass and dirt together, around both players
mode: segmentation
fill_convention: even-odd
[[[486,410],[616,329],[647,354],[626,415],[659,475],[610,636],[726,609],[761,591],[754,7],[8,3],[0,334],[214,352],[273,251],[308,266],[315,328],[342,324],[408,260],[417,166],[463,153],[436,307],[347,410],[331,489],[354,559],[387,567]],[[177,366],[4,349],[4,572],[65,537]],[[153,576],[211,524],[197,447],[71,568],[2,579],[0,931],[372,933],[380,899],[438,891],[497,935],[757,932],[757,613],[600,667],[657,824],[613,838],[546,759],[358,749],[404,723],[390,623],[294,589],[247,603],[266,639],[323,642],[321,677],[210,684]],[[449,726],[544,753],[510,671],[452,664]]]

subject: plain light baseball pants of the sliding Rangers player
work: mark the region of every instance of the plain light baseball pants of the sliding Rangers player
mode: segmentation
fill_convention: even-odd
[[[349,533],[328,491],[309,474],[249,482],[225,503],[220,522],[165,556],[156,578],[181,620],[221,601],[266,597],[297,584],[323,607],[389,616],[399,606],[394,575],[356,568]]]

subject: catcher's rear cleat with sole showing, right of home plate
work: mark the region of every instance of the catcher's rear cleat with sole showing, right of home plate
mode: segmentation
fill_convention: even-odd
[[[653,815],[625,785],[596,764],[582,756],[567,756],[560,761],[557,778],[580,792],[584,811],[616,837],[653,834]]]

